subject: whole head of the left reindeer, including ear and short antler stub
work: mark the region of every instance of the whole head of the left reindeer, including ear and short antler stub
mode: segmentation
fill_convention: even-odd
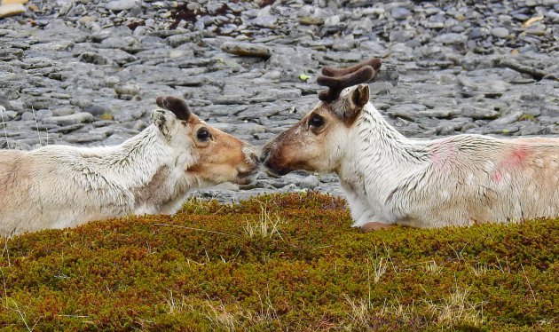
[[[222,182],[240,185],[251,183],[258,171],[255,146],[240,141],[191,113],[185,100],[159,97],[157,105],[169,110],[154,110],[152,119],[161,134],[173,148],[187,150],[193,162],[188,162],[185,172],[204,186]]]

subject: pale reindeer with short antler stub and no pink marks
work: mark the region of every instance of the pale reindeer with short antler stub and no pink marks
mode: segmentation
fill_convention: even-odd
[[[182,99],[156,102],[164,109],[154,123],[119,146],[0,150],[0,234],[172,214],[193,189],[256,178],[254,146],[204,123]]]

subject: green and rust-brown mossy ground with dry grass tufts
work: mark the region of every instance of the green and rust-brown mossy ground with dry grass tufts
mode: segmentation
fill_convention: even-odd
[[[559,220],[351,228],[320,194],[2,239],[7,330],[553,330]]]

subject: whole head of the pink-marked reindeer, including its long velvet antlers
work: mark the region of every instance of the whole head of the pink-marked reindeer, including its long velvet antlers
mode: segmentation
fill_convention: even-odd
[[[337,170],[351,144],[353,124],[369,101],[369,87],[361,83],[370,81],[379,67],[381,60],[374,58],[353,67],[323,68],[317,82],[328,90],[320,91],[321,102],[264,146],[260,155],[264,165],[279,175],[292,170]]]

